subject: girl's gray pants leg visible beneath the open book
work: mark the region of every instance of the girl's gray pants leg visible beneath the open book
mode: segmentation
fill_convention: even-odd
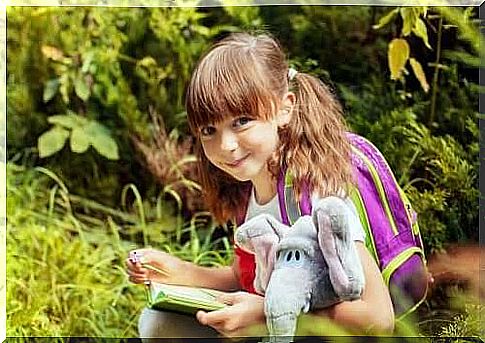
[[[201,325],[195,316],[145,308],[138,321],[138,333],[143,338],[214,338],[216,330]],[[150,340],[147,340],[150,341]],[[165,341],[164,341],[165,342]]]

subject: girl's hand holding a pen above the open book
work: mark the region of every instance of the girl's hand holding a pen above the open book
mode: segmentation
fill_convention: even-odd
[[[191,271],[194,267],[192,263],[155,249],[133,250],[125,264],[129,280],[133,283],[150,280],[177,285],[191,284]]]

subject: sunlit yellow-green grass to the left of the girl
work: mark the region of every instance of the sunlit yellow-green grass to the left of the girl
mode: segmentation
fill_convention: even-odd
[[[124,260],[143,243],[122,236],[145,234],[141,242],[200,264],[232,258],[227,239],[211,250],[214,228],[197,218],[175,228],[179,235],[159,229],[173,218],[141,225],[127,212],[127,224],[102,211],[88,219],[38,170],[9,164],[7,176],[7,336],[136,337],[144,290],[127,281]],[[190,241],[177,241],[184,231]]]

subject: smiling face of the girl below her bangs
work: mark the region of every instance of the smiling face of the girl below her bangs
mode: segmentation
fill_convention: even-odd
[[[239,181],[253,183],[268,175],[267,161],[278,147],[276,120],[227,118],[200,128],[207,159]]]

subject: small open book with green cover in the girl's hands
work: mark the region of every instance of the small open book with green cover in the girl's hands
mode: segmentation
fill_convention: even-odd
[[[222,292],[214,289],[160,283],[146,286],[148,307],[152,309],[195,314],[198,310],[214,311],[226,306],[216,301]]]

